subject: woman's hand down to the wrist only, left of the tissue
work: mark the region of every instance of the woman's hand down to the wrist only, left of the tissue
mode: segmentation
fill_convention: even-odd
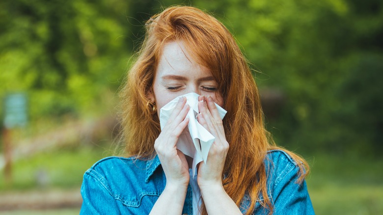
[[[186,98],[181,97],[170,115],[164,129],[154,142],[154,149],[164,169],[166,187],[187,187],[189,184],[189,165],[185,155],[177,150],[176,144],[182,131],[189,123],[186,117],[190,107]]]

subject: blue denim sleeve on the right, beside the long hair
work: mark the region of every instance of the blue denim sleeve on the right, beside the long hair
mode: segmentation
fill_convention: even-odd
[[[274,182],[274,215],[315,215],[306,182],[298,182],[299,167],[289,163]]]

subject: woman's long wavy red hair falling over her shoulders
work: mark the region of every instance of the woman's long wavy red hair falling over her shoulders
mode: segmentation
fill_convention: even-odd
[[[147,105],[147,95],[152,90],[164,45],[182,41],[193,59],[212,72],[227,110],[223,125],[230,146],[225,177],[222,175],[225,191],[237,206],[248,195],[250,205],[246,214],[252,213],[262,194],[262,206],[272,213],[264,161],[268,150],[280,148],[265,130],[258,88],[232,34],[213,16],[189,6],[169,7],[147,21],[145,28],[145,39],[120,94],[126,156],[149,159],[155,155],[154,141],[161,132],[160,121],[157,112],[153,113]],[[297,182],[300,183],[308,165],[299,156],[285,151],[300,167]],[[207,214],[204,205],[201,210]]]

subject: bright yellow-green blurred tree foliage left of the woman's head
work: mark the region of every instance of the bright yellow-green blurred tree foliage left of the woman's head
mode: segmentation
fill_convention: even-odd
[[[131,54],[124,0],[2,1],[1,88],[27,91],[31,115],[97,112]]]

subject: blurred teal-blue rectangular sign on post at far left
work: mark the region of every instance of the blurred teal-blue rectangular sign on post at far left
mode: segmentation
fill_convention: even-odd
[[[27,96],[9,94],[4,99],[4,126],[7,129],[27,125]]]

